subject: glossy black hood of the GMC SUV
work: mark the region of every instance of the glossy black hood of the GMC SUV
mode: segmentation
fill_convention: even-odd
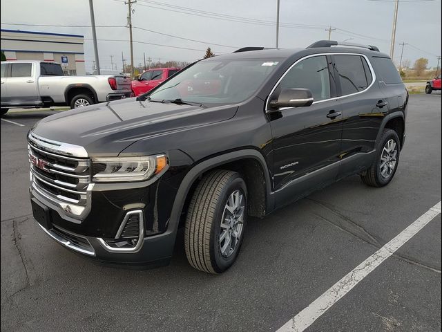
[[[237,109],[128,98],[63,111],[40,120],[31,130],[42,138],[80,145],[89,156],[117,156],[137,140],[228,120]]]

